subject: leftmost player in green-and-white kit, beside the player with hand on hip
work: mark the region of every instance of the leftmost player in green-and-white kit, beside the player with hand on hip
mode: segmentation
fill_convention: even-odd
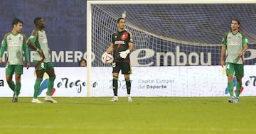
[[[26,45],[26,36],[21,33],[23,22],[18,18],[14,18],[12,21],[13,29],[11,32],[4,35],[4,39],[1,42],[0,50],[0,63],[4,55],[4,50],[7,49],[6,58],[6,82],[14,91],[14,97],[12,102],[18,102],[18,95],[21,91],[21,74],[23,74],[23,52],[25,52],[26,67],[30,66],[28,46]],[[12,80],[15,72],[15,84]]]

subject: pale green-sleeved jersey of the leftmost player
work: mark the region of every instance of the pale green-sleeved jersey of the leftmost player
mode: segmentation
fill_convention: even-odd
[[[28,57],[28,45],[26,44],[26,36],[22,33],[6,33],[1,42],[0,57],[3,57],[4,51],[7,49],[6,64],[23,65],[23,51],[25,52],[26,61]]]

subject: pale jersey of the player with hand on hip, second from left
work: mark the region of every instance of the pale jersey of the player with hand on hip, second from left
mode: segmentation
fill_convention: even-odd
[[[43,51],[43,55],[46,57],[43,62],[51,62],[50,60],[50,48],[48,47],[48,40],[45,30],[38,30],[37,28],[32,31],[31,36],[28,38],[32,43],[35,43],[37,47]],[[33,60],[41,60],[42,57],[35,52],[33,55]]]

